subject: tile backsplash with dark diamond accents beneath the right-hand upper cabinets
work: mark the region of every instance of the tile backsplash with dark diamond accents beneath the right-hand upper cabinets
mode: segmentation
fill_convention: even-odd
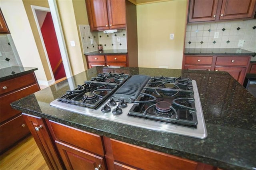
[[[238,47],[239,41],[244,42],[242,47]],[[241,48],[256,52],[256,20],[187,25],[185,48]]]

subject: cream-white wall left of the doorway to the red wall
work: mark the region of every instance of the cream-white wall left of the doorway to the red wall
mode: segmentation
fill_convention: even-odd
[[[37,67],[38,82],[47,78],[22,0],[1,0],[0,7],[24,67]]]

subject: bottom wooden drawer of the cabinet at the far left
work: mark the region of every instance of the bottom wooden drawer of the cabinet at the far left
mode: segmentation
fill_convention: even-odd
[[[1,152],[30,133],[22,115],[0,126]]]

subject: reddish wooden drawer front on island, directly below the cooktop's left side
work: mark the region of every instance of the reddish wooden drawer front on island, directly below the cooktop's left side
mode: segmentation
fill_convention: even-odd
[[[104,156],[102,137],[80,129],[50,121],[55,140]]]

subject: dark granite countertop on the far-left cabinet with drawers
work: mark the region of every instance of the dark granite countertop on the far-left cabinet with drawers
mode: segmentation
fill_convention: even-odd
[[[0,69],[0,81],[5,81],[8,79],[12,79],[14,77],[19,77],[21,75],[25,75],[31,73],[37,68],[32,67],[19,67],[19,66],[12,66]]]

